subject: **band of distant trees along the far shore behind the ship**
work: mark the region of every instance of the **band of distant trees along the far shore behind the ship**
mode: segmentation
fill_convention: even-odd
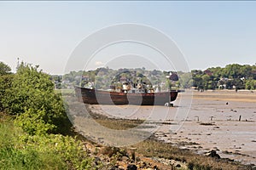
[[[74,85],[84,84],[81,81],[74,81],[75,76],[86,75],[90,82],[97,82],[98,88],[108,88],[109,82],[119,82],[120,77],[126,77],[132,82],[147,82],[151,85],[157,85],[161,82],[166,82],[166,76],[169,76],[170,71],[146,71],[143,68],[135,69],[119,69],[112,70],[109,68],[98,68],[95,71],[71,71],[65,75],[67,80],[73,82]],[[192,70],[188,73],[177,71],[179,81],[176,85],[183,88],[190,88],[195,86],[199,89],[215,89],[218,88],[233,88],[233,86],[245,88],[246,80],[256,80],[256,65],[226,65],[224,68],[211,67],[206,71]],[[191,79],[189,80],[189,75]],[[102,77],[102,78],[98,78]],[[228,80],[229,79],[229,80]],[[243,81],[241,81],[243,79]],[[227,83],[227,84],[226,84]],[[168,85],[167,85],[168,86]],[[162,87],[163,89],[166,87]]]

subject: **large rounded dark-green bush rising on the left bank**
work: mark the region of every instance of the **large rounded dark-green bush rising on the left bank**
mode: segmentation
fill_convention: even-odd
[[[7,77],[7,76],[6,76]],[[27,133],[66,133],[71,127],[60,94],[54,93],[49,75],[38,66],[21,63],[17,73],[2,77],[4,111],[17,116],[16,123]]]

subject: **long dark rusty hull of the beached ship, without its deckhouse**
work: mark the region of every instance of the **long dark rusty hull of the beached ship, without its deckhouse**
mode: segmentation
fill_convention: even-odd
[[[165,105],[177,98],[177,90],[160,93],[124,94],[90,88],[75,87],[80,102],[94,105]]]

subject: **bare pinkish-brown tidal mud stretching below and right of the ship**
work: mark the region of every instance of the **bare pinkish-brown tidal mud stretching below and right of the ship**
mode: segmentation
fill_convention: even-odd
[[[125,120],[125,124],[107,126],[103,125],[104,122],[97,122],[107,131],[115,127],[122,127],[122,130],[140,127],[144,133],[137,135],[144,135],[142,139],[153,134],[156,139],[183,150],[188,149],[199,154],[216,150],[222,158],[241,161],[243,164],[256,164],[256,92],[187,91],[178,94],[173,104],[173,107],[160,105],[87,105],[86,107],[97,116]],[[79,122],[77,124],[81,125],[82,116],[75,117],[74,122]],[[84,128],[82,125],[80,127],[82,132],[88,124],[86,126],[84,124]],[[93,126],[89,127],[91,129],[87,132],[96,129]],[[84,135],[92,136],[92,134]],[[109,136],[107,133],[105,135]],[[92,138],[104,143],[106,142],[104,139],[108,139],[106,136],[97,139],[96,135]],[[129,144],[142,139],[131,139]]]

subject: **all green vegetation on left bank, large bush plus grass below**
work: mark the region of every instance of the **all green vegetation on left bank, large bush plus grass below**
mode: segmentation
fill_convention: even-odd
[[[0,68],[0,169],[92,169],[84,145],[63,135],[71,134],[71,123],[49,75],[24,63],[15,74],[5,68]]]

